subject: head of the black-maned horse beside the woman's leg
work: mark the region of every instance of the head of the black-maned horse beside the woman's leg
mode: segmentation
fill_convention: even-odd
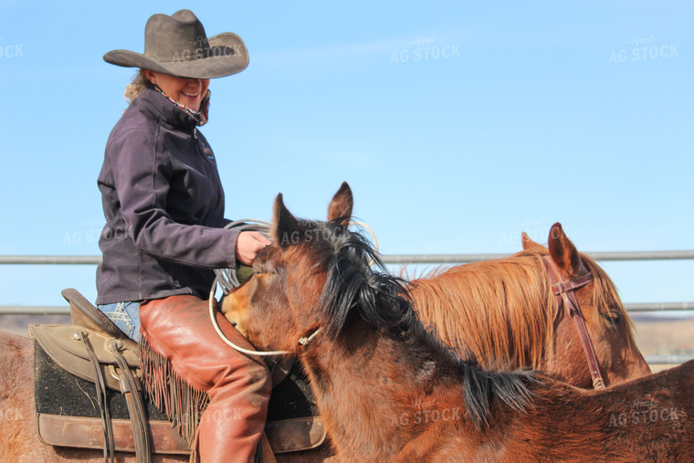
[[[226,318],[258,349],[296,353],[319,330],[335,337],[353,311],[378,326],[390,326],[411,311],[404,287],[385,272],[373,247],[348,226],[352,190],[343,183],[328,207],[328,220],[300,220],[278,195],[271,246],[253,263],[253,277],[232,290]],[[395,283],[395,284],[394,284]],[[375,296],[374,296],[375,295]],[[378,310],[381,298],[401,299],[394,312]]]

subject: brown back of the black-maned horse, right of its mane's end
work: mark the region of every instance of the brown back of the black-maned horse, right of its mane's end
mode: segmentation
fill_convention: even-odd
[[[545,378],[532,392],[527,414],[497,422],[510,459],[694,461],[694,361],[605,390]]]

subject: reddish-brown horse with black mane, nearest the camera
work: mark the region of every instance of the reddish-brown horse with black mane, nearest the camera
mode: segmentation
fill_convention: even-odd
[[[259,349],[300,359],[344,461],[691,461],[694,363],[606,390],[460,360],[417,320],[406,285],[347,226],[275,203],[274,243],[232,293]],[[237,294],[240,294],[237,297]]]

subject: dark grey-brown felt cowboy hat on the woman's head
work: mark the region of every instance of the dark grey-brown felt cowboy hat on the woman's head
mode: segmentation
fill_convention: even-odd
[[[190,10],[152,15],[144,27],[144,54],[113,50],[104,61],[126,68],[143,68],[188,79],[213,79],[241,72],[248,52],[241,37],[225,32],[207,38]]]

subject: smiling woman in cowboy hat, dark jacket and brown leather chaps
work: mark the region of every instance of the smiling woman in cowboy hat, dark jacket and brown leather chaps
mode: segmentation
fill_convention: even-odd
[[[99,176],[106,226],[97,304],[139,340],[150,395],[182,426],[193,458],[253,461],[268,369],[221,341],[205,298],[214,268],[250,265],[269,241],[223,228],[215,154],[197,130],[207,121],[209,79],[246,68],[246,47],[231,33],[207,39],[195,15],[181,10],[150,17],[144,54],[115,50],[104,60],[141,70]],[[216,317],[229,339],[252,348]]]

